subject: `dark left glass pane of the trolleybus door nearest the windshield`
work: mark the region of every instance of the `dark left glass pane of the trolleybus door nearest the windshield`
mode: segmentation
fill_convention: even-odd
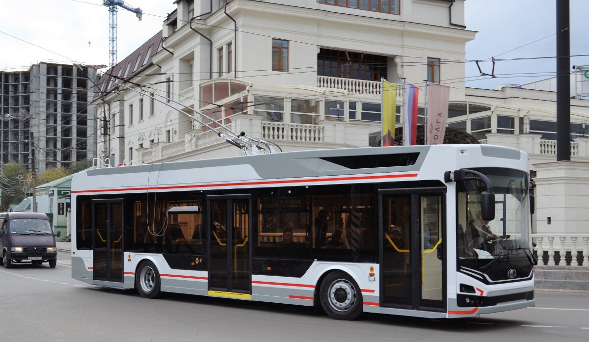
[[[384,197],[383,219],[383,300],[411,304],[411,198],[409,195]]]

